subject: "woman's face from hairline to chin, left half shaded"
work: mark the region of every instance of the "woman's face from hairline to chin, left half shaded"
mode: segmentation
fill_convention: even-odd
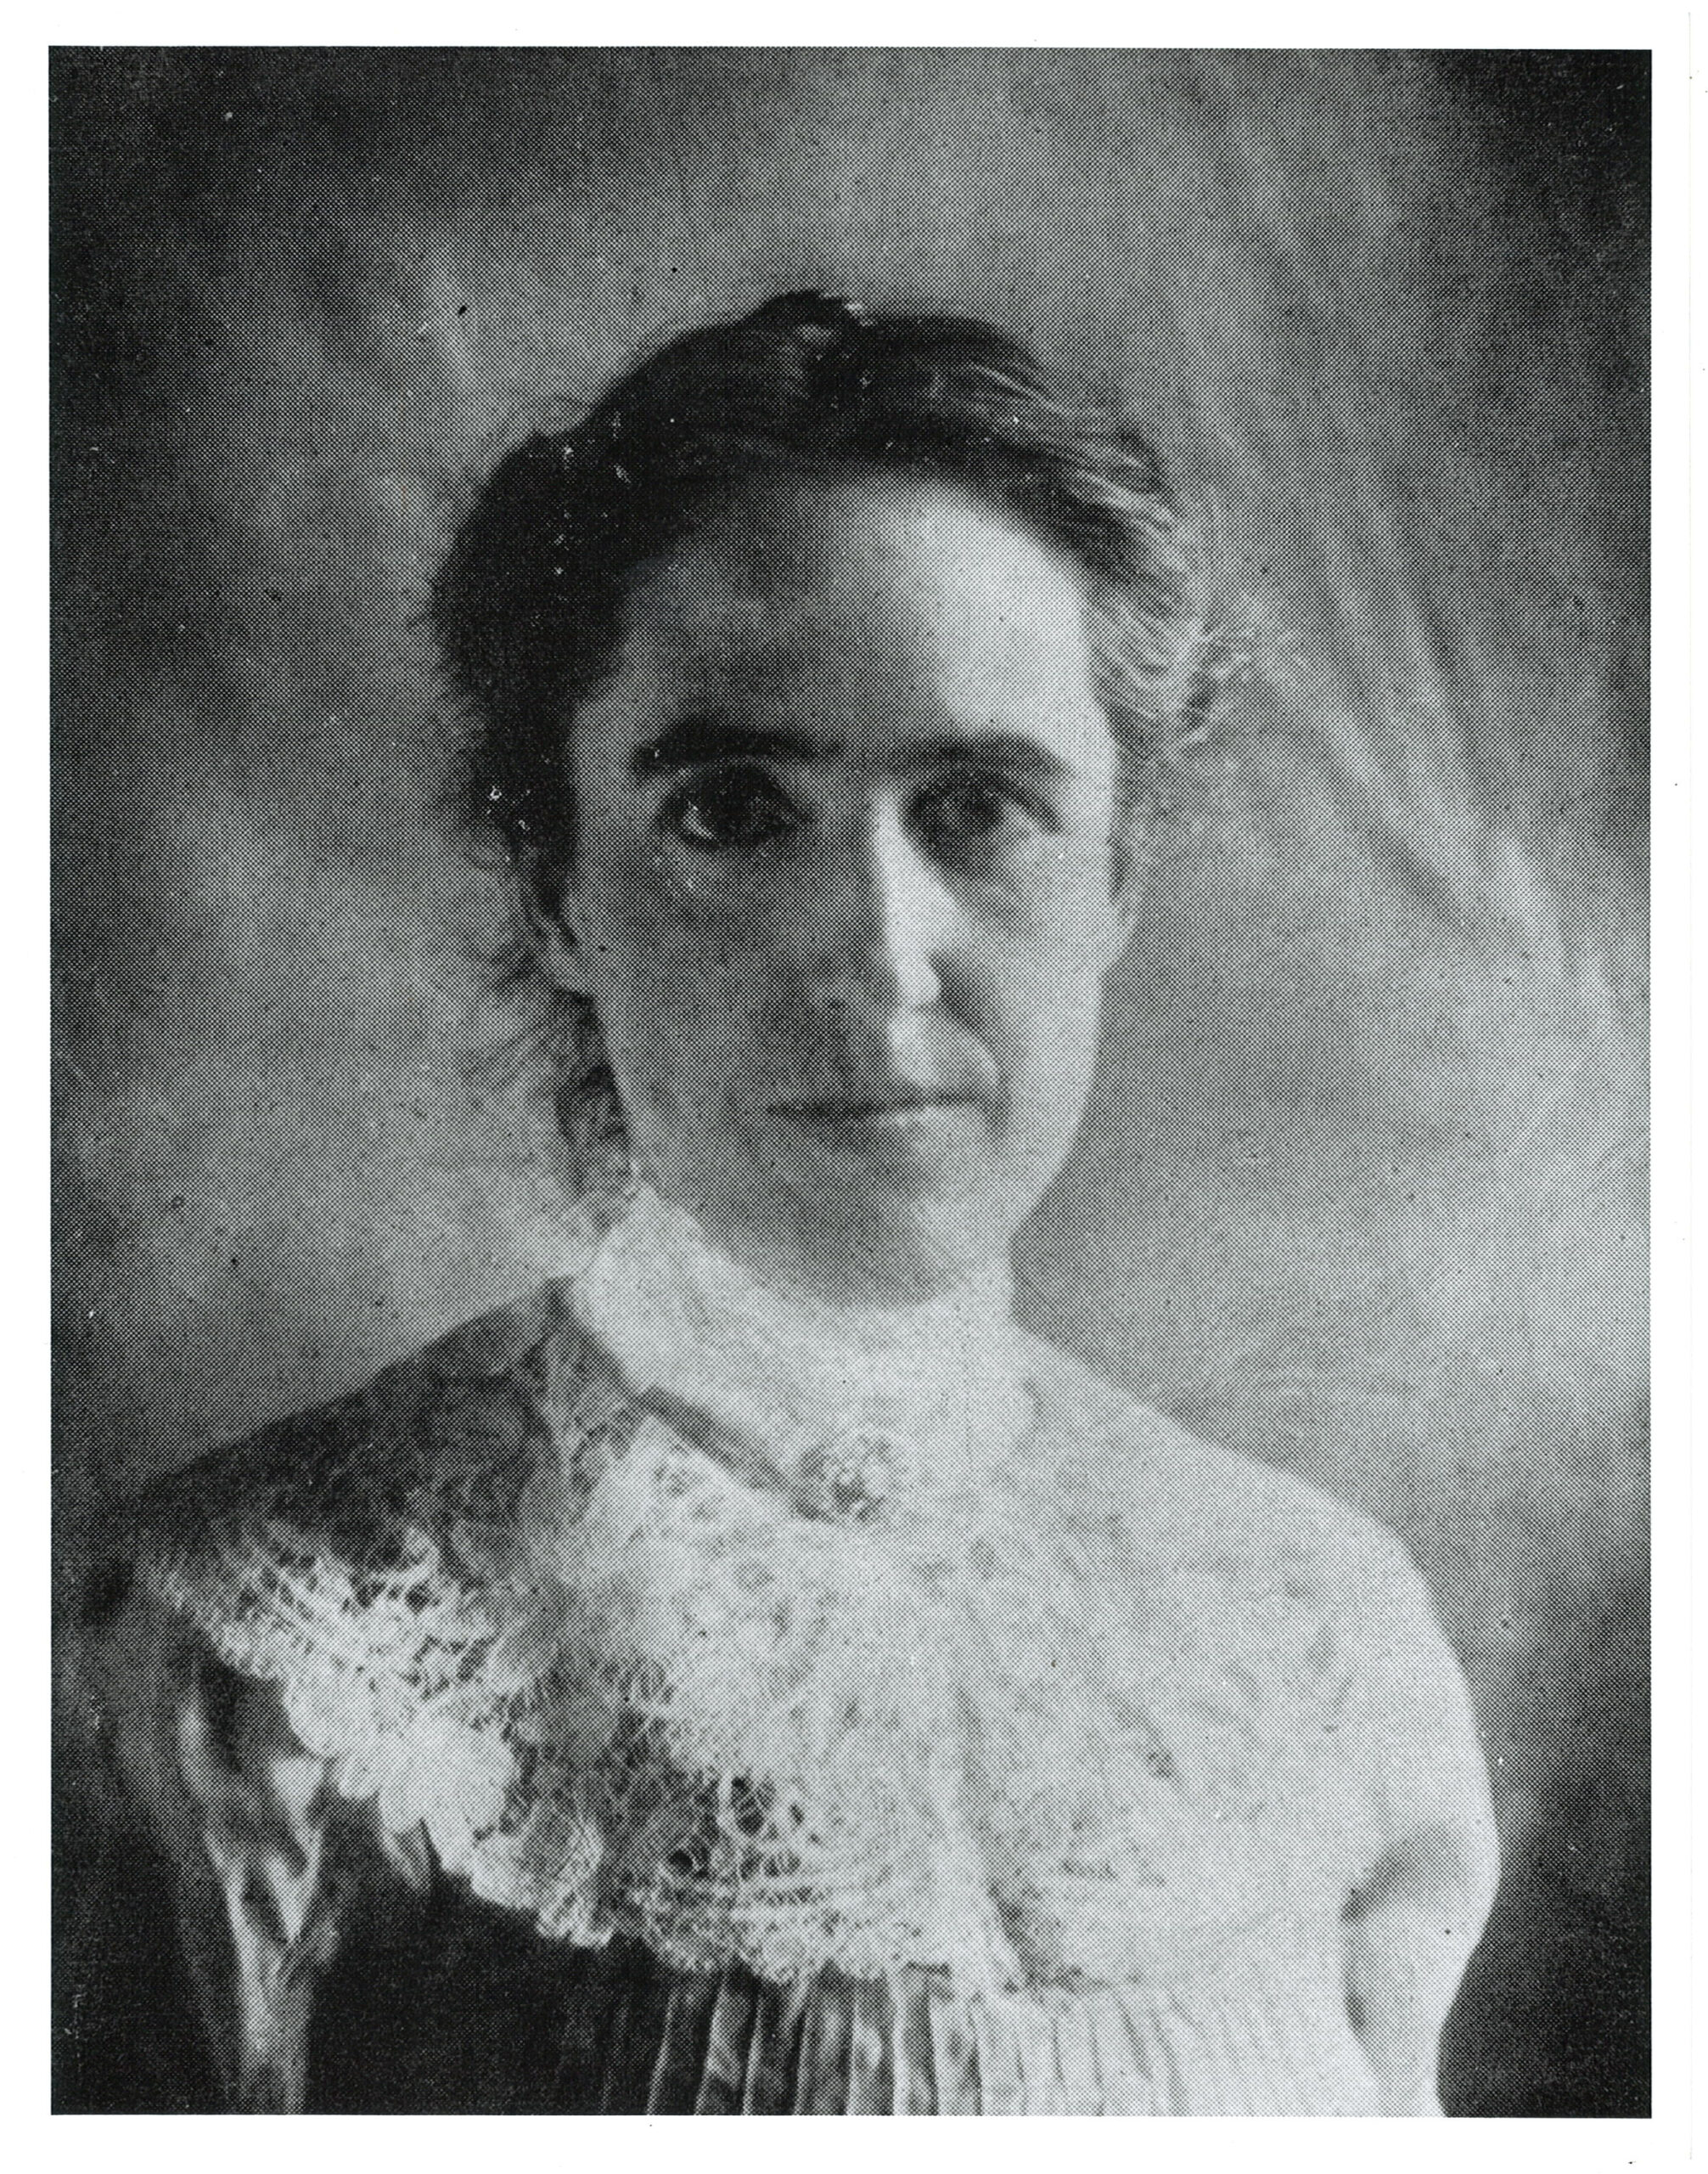
[[[643,580],[569,746],[548,941],[641,1172],[821,1296],[1006,1259],[1126,920],[1076,574],[941,485],[769,487]]]

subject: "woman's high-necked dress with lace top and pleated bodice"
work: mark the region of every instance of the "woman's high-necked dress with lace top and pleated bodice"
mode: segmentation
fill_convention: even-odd
[[[1000,1287],[784,1304],[652,1196],[130,1561],[93,1700],[237,2104],[1369,2113],[1360,1891],[1489,1859],[1391,1537]]]

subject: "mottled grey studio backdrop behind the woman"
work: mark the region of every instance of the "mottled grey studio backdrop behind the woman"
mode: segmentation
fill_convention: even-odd
[[[1510,1861],[1449,2102],[1638,2111],[1645,76],[61,52],[63,1554],[558,1259],[419,633],[480,470],[782,287],[993,315],[1258,615],[1028,1309],[1410,1537]]]

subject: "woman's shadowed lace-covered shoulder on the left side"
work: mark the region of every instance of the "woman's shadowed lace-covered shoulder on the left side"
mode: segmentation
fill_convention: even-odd
[[[278,1683],[309,1659],[372,1678],[382,1659],[417,1672],[432,1641],[474,1650],[489,1596],[519,1576],[524,1489],[591,1396],[589,1346],[545,1285],[122,1504],[85,1624],[120,1630],[124,1665],[139,1624],[154,1654],[161,1626],[189,1628]]]

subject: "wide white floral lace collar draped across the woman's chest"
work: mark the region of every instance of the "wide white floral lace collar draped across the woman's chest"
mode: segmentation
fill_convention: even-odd
[[[535,1330],[191,1474],[143,1550],[332,1787],[480,1898],[685,1970],[965,1989],[1167,1974],[1302,1878],[1336,1907],[1282,1863],[1334,1848],[1313,1596],[1147,1572],[1108,1498],[1052,1500],[1041,1439],[802,1502],[563,1294]]]

